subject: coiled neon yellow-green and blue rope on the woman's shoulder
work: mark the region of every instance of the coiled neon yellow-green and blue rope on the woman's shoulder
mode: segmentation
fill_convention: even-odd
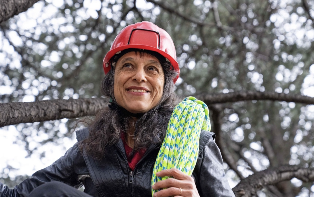
[[[177,168],[191,176],[198,157],[201,130],[210,128],[208,107],[203,101],[187,97],[177,104],[154,165],[152,185],[169,178],[156,176],[164,169]],[[157,191],[152,189],[152,195]]]

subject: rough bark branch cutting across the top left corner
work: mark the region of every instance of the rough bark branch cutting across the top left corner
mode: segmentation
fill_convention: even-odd
[[[39,0],[0,0],[0,23],[26,11]]]

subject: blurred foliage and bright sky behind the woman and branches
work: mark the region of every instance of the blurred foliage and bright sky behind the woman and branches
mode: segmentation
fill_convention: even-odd
[[[261,91],[314,97],[314,0],[41,0],[0,24],[0,102],[99,98],[102,60],[128,24],[151,21],[176,46],[181,98]],[[220,104],[231,187],[282,164],[314,167],[314,105]],[[75,142],[78,119],[0,128],[0,182],[13,187]],[[213,124],[213,122],[212,122]],[[314,196],[297,178],[264,196]],[[277,194],[275,194],[277,191]],[[279,193],[278,193],[279,192]]]

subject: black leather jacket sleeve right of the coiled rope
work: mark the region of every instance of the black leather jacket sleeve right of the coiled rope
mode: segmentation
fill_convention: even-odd
[[[214,133],[206,132],[200,139],[198,161],[193,171],[198,193],[201,197],[235,197],[225,175],[224,163]],[[203,146],[202,146],[203,144]]]

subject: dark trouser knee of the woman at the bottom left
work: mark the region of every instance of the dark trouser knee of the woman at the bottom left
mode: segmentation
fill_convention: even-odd
[[[29,197],[92,197],[67,184],[53,181],[35,188]]]

